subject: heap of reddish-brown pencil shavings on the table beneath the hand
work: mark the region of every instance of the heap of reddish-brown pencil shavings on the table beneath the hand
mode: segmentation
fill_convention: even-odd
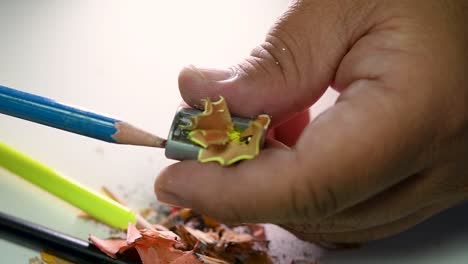
[[[188,209],[175,211],[168,218],[167,227],[173,231],[129,225],[126,239],[102,240],[90,236],[90,241],[112,258],[136,250],[138,260],[145,264],[272,263],[264,233],[258,232],[263,230],[261,226],[229,228]]]

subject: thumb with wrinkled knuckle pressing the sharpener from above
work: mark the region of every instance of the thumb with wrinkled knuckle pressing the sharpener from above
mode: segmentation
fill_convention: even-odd
[[[333,5],[296,1],[266,39],[230,69],[185,67],[179,75],[183,99],[197,107],[202,98],[226,98],[235,115],[269,114],[278,123],[312,105],[331,83],[346,45]],[[313,27],[312,25],[320,25]]]

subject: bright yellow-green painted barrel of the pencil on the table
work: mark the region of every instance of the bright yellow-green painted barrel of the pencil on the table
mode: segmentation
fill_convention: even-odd
[[[112,227],[126,229],[129,222],[136,223],[136,215],[128,208],[60,175],[1,142],[0,167],[4,167]]]

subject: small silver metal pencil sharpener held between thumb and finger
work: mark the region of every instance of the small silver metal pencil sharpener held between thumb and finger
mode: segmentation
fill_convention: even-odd
[[[190,131],[182,127],[192,124],[192,116],[200,115],[202,111],[194,108],[182,107],[179,108],[172,121],[169,136],[166,142],[165,155],[169,159],[174,160],[197,160],[198,153],[202,147],[196,145],[188,138]],[[252,119],[242,117],[231,117],[234,124],[234,129],[244,131],[250,124]],[[261,147],[265,140],[266,131],[262,135]]]

